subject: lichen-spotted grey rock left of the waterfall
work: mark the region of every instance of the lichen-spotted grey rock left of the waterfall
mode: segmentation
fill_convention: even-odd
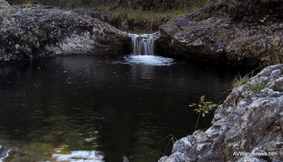
[[[52,54],[113,54],[128,50],[127,32],[82,11],[76,14],[39,5],[11,7],[3,0],[0,11],[1,62]]]

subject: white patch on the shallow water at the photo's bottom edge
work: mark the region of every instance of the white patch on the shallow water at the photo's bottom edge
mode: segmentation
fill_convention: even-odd
[[[53,154],[56,162],[103,162],[103,155],[98,151],[71,151],[70,154]]]

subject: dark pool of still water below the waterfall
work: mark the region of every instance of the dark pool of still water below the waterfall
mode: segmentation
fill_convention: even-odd
[[[2,161],[157,162],[172,136],[194,131],[198,114],[188,105],[202,95],[223,101],[233,76],[229,68],[161,56],[71,55],[2,66],[0,145],[11,149]],[[212,117],[198,127],[210,127]]]

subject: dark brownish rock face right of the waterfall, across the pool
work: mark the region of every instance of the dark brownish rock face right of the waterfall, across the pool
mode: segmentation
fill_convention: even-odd
[[[209,0],[159,27],[161,54],[232,65],[283,62],[283,1]]]

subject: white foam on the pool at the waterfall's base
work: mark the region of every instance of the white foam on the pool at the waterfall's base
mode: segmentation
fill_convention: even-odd
[[[166,58],[162,56],[150,56],[150,55],[137,55],[137,56],[125,56],[125,63],[127,64],[143,64],[143,65],[157,65],[168,66],[174,64],[174,59]]]

